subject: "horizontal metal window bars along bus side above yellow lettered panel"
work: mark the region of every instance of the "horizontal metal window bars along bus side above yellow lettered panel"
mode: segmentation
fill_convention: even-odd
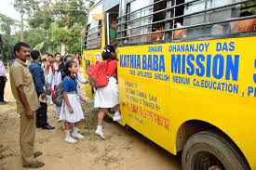
[[[128,1],[128,3],[131,3],[131,2],[134,2],[134,1],[136,1],[136,0]],[[171,3],[171,0],[167,0],[167,7],[166,7],[166,9],[162,9],[162,10],[164,10],[166,12],[166,16],[167,16],[167,11],[169,11],[170,9],[176,9],[177,7],[193,4],[193,3],[197,2],[197,1],[200,1],[200,0],[192,0],[192,1],[189,1],[189,2],[184,2],[184,3],[179,4],[179,5],[174,5],[174,6],[168,7],[168,2]],[[157,1],[155,3],[159,3],[159,2],[161,2],[161,0]],[[174,2],[176,2],[176,1],[174,1]],[[128,23],[129,21],[132,21],[132,20],[126,20],[124,22],[118,23],[117,34],[118,35],[119,34],[123,35],[124,32],[127,32],[128,30],[132,30],[132,29],[136,29],[136,28],[141,28],[143,26],[153,25],[155,23],[161,23],[161,22],[165,22],[165,24],[168,24],[168,23],[171,23],[172,21],[175,21],[175,20],[177,20],[179,18],[184,18],[184,17],[187,17],[187,16],[193,16],[193,15],[196,15],[196,14],[201,14],[201,13],[205,13],[205,12],[209,12],[209,11],[214,11],[216,9],[221,9],[221,8],[226,8],[226,7],[236,7],[237,5],[246,4],[248,2],[252,2],[252,1],[251,0],[244,0],[244,1],[241,1],[241,2],[231,3],[228,6],[212,7],[212,8],[206,9],[206,10],[200,10],[200,11],[188,14],[188,15],[182,15],[182,16],[177,16],[177,17],[174,16],[172,18],[167,18],[166,17],[165,20],[159,20],[159,21],[156,21],[156,22],[151,22],[149,24],[140,25],[138,27],[120,30],[119,29],[120,26],[124,27],[124,24]],[[128,3],[126,3],[126,7],[128,6]],[[142,7],[140,9],[132,11],[132,12],[128,12],[128,13],[125,12],[124,15],[123,15],[123,12],[122,12],[122,13],[120,13],[121,16],[118,17],[118,20],[123,20],[124,18],[128,17],[129,14],[134,13],[134,12],[138,12],[138,11],[142,10],[143,8],[152,7],[152,6],[154,7],[155,3],[153,3],[153,4],[149,5],[149,6],[146,6],[146,7]],[[159,11],[156,11],[155,13],[158,13],[158,12]],[[149,15],[154,15],[154,13],[153,14],[149,14]],[[143,17],[147,17],[147,16],[143,16]],[[214,24],[230,23],[230,22],[233,22],[233,21],[249,20],[249,19],[255,19],[255,18],[256,18],[256,15],[251,15],[251,16],[247,16],[247,17],[240,17],[240,18],[230,18],[230,20],[222,20],[222,21],[217,21],[217,22],[209,22],[209,23],[204,23],[204,24],[200,24],[200,25],[199,24],[195,24],[195,25],[185,26],[185,27],[182,27],[182,28],[165,29],[164,31],[154,32],[154,33],[164,33],[166,35],[167,33],[171,33],[171,32],[177,31],[177,30],[199,28],[199,27],[205,27],[205,26],[212,26]],[[140,20],[140,19],[136,19],[136,20]],[[149,41],[149,42],[138,42],[138,43],[130,43],[130,44],[120,44],[119,43],[120,40],[122,42],[125,39],[128,39],[130,37],[149,35],[149,34],[153,34],[153,33],[143,33],[143,34],[136,34],[136,35],[131,35],[131,36],[122,36],[122,37],[118,36],[117,37],[118,46],[151,45],[151,44],[161,44],[161,43],[168,43],[168,42],[184,42],[184,41],[193,41],[193,40],[208,40],[208,39],[218,39],[218,38],[255,36],[256,32],[228,33],[228,34],[216,34],[216,35],[215,34],[211,34],[211,35],[204,35],[204,36],[198,36],[198,37],[182,37],[182,38],[179,38],[179,39],[171,39],[171,38],[168,39],[167,36],[165,36],[164,40],[157,41],[157,42]]]

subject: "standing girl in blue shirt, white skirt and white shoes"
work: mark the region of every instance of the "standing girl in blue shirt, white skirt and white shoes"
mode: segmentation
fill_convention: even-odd
[[[81,107],[81,100],[86,102],[85,98],[79,96],[77,93],[78,85],[75,73],[77,72],[77,65],[74,60],[66,62],[66,76],[63,79],[62,92],[63,102],[61,105],[60,119],[64,122],[65,141],[68,143],[76,143],[74,138],[85,138],[79,134],[79,124],[84,119],[84,113]],[[73,133],[70,134],[71,124],[74,124]]]

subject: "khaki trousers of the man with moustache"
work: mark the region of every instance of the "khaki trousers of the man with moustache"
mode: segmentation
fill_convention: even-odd
[[[34,163],[34,136],[35,136],[35,112],[34,119],[28,119],[25,111],[20,113],[20,151],[23,164]]]

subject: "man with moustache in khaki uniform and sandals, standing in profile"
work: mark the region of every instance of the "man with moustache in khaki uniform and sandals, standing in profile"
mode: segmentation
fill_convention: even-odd
[[[23,167],[38,168],[44,163],[34,158],[42,152],[34,152],[35,111],[39,108],[39,101],[35,92],[33,77],[25,64],[30,56],[30,46],[18,43],[14,46],[16,59],[10,68],[10,85],[20,113],[20,151]]]

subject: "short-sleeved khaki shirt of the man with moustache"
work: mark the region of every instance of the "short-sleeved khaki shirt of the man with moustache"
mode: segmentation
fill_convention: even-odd
[[[24,111],[24,106],[20,102],[16,87],[22,85],[25,97],[32,111],[39,109],[40,104],[35,92],[34,81],[31,72],[27,65],[20,59],[15,59],[10,68],[10,85],[13,97],[16,99],[17,112]]]

